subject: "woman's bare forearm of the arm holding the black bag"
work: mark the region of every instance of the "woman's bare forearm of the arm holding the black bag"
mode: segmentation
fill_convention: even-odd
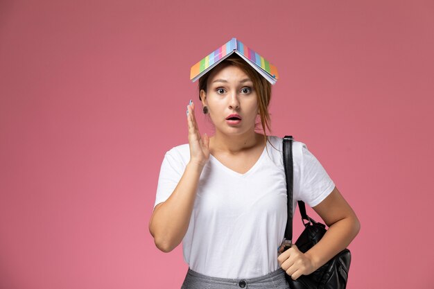
[[[356,237],[360,227],[356,216],[343,218],[331,225],[318,244],[305,253],[313,261],[315,270],[345,249]]]

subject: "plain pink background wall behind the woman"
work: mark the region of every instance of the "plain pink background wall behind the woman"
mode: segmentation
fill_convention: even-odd
[[[279,69],[272,134],[306,143],[361,220],[348,288],[433,288],[433,15],[433,1],[0,1],[0,288],[180,288],[182,245],[160,252],[148,221],[164,152],[188,141],[190,67],[231,37]]]

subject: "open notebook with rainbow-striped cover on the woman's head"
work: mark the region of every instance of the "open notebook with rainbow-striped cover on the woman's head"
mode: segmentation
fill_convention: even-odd
[[[236,37],[233,37],[232,40],[229,40],[229,42],[220,46],[216,51],[209,53],[205,58],[194,64],[191,67],[190,80],[195,82],[232,53],[240,55],[241,58],[248,62],[256,71],[261,73],[272,85],[279,79],[279,73],[277,73],[277,68],[274,65],[248,46],[245,46],[241,41],[237,40]]]

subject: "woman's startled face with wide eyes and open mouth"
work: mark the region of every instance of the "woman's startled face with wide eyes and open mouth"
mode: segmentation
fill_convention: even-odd
[[[201,90],[200,96],[216,130],[224,134],[254,132],[258,116],[257,93],[242,69],[229,65],[211,74],[207,93]],[[231,114],[237,116],[232,119]]]

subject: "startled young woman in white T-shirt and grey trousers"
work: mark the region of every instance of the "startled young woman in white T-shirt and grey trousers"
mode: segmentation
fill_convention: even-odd
[[[282,139],[266,134],[270,96],[268,80],[234,53],[199,80],[214,136],[200,134],[190,101],[189,143],[164,156],[149,229],[163,252],[182,241],[183,289],[286,289],[285,272],[310,274],[358,234],[354,211],[306,144],[294,140],[294,211],[303,200],[329,229],[305,254],[295,245],[277,252],[288,213]]]

